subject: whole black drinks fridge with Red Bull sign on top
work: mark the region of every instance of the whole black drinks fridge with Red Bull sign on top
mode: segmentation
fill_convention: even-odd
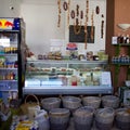
[[[6,104],[21,99],[24,86],[25,22],[20,17],[0,17],[0,98]]]

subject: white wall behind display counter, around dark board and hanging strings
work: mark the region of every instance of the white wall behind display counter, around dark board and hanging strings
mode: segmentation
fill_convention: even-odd
[[[74,1],[72,9],[78,3],[81,9],[86,10],[86,0],[70,1]],[[104,25],[104,38],[101,39],[101,21],[104,20],[106,24],[106,0],[89,1],[89,15],[91,15],[92,10],[95,12],[96,5],[100,6],[100,14],[94,14],[95,42],[88,43],[87,50],[84,50],[84,43],[78,43],[80,53],[86,53],[87,51],[96,53],[99,50],[105,50],[106,25]],[[21,16],[24,17],[26,23],[26,42],[36,55],[50,51],[51,39],[65,39],[64,46],[68,43],[68,28],[64,11],[62,12],[62,26],[57,28],[57,0],[23,0]],[[101,14],[104,14],[104,18],[101,18]],[[91,16],[89,18],[89,25],[91,25]]]

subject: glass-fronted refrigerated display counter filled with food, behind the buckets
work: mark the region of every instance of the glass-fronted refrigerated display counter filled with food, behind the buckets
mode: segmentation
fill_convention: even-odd
[[[103,61],[28,61],[23,94],[113,93],[110,72]]]

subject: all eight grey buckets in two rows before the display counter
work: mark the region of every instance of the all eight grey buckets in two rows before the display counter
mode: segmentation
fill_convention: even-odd
[[[119,105],[119,98],[115,95],[41,100],[41,107],[49,114],[51,130],[67,130],[70,117],[75,130],[91,130],[93,123],[99,130],[110,130],[114,123],[121,130],[130,130],[130,108]]]

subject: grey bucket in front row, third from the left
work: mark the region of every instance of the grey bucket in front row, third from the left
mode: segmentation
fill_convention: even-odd
[[[99,108],[95,110],[95,126],[100,130],[110,130],[114,122],[115,110],[113,108]]]

